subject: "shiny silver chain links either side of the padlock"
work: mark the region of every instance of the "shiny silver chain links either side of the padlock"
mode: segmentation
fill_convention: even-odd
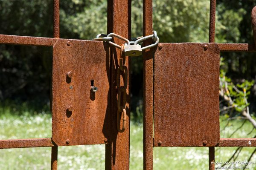
[[[144,46],[144,47],[141,48],[142,50],[150,49],[150,48],[152,48],[154,46],[157,46],[157,44],[159,43],[159,37],[157,37],[157,32],[156,31],[153,31],[152,35],[148,35],[148,36],[145,36],[145,37],[137,37],[135,41],[129,41],[125,37],[122,37],[122,36],[114,34],[114,33],[110,33],[108,35],[98,34],[96,36],[96,38],[94,38],[93,40],[96,40],[96,41],[106,41],[109,44],[111,44],[112,46],[115,46],[115,47],[121,49],[121,46],[119,46],[118,44],[113,43],[111,41],[111,40],[113,40],[113,37],[117,37],[117,38],[119,38],[121,40],[124,40],[126,42],[125,45],[131,45],[131,44],[137,45],[138,43],[140,43],[140,42],[142,42],[144,40],[148,40],[148,39],[152,38],[154,44],[151,44],[151,45],[148,45],[148,46]]]

